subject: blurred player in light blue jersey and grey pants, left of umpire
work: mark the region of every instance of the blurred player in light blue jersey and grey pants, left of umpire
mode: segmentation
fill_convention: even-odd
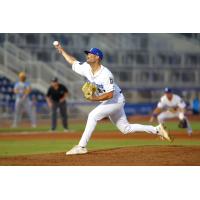
[[[24,72],[19,73],[19,81],[14,85],[15,99],[15,113],[12,127],[18,126],[18,122],[21,119],[22,111],[25,109],[28,114],[31,125],[33,128],[36,127],[35,118],[32,117],[32,107],[29,100],[29,94],[31,92],[31,86],[29,82],[26,82],[26,74]]]

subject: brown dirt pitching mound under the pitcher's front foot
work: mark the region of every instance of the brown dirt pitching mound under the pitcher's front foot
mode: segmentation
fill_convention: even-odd
[[[199,166],[200,147],[150,146],[91,151],[66,156],[65,152],[6,157],[0,165],[25,166]]]

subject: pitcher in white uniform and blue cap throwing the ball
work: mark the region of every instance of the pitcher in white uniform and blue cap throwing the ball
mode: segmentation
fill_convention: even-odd
[[[124,112],[124,96],[121,89],[115,84],[112,73],[101,64],[103,53],[99,49],[92,48],[89,51],[85,51],[86,62],[79,62],[68,54],[60,43],[57,43],[55,48],[63,55],[65,60],[72,65],[72,70],[74,72],[84,76],[88,83],[92,83],[96,86],[95,92],[90,96],[87,96],[86,92],[86,94],[84,94],[85,97],[90,101],[100,102],[100,104],[89,113],[87,124],[79,144],[66,152],[66,155],[87,153],[86,146],[97,122],[105,117],[109,117],[112,123],[124,134],[146,132],[160,135],[164,137],[164,139],[171,141],[168,132],[164,129],[162,124],[156,127],[151,125],[129,124]],[[86,85],[88,85],[88,83],[86,83]],[[85,85],[82,89],[85,89]]]

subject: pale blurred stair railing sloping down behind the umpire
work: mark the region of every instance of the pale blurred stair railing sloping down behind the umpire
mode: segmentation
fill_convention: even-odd
[[[51,79],[57,76],[59,81],[68,87],[72,100],[82,98],[80,87],[83,79],[77,77],[64,64],[56,62],[48,65],[44,62],[33,61],[28,53],[9,42],[6,42],[4,48],[0,47],[0,64],[2,66],[1,73],[10,76],[12,81],[17,80],[20,71],[25,71],[32,86],[46,93]]]

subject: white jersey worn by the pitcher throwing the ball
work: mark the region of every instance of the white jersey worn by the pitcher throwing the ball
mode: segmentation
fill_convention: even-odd
[[[72,70],[84,76],[88,82],[97,86],[97,96],[114,91],[113,98],[103,102],[124,102],[124,96],[122,95],[121,89],[115,84],[112,73],[103,65],[101,65],[100,70],[96,74],[93,74],[87,62],[81,63],[76,61],[72,65]]]

